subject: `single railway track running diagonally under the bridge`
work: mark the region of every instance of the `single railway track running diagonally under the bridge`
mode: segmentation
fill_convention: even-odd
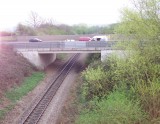
[[[18,124],[37,124],[40,120],[41,116],[43,115],[44,111],[46,110],[47,106],[51,102],[53,96],[57,92],[58,88],[62,84],[63,80],[70,72],[71,68],[73,67],[74,63],[76,62],[79,54],[75,54],[71,57],[65,66],[62,68],[60,73],[57,75],[53,83],[45,90],[41,98],[38,102],[34,105],[31,105],[29,111],[24,112],[22,118],[18,121]]]

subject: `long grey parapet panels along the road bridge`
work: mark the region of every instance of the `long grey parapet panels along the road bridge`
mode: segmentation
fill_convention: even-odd
[[[58,51],[101,51],[111,50],[116,42],[91,41],[91,42],[12,42],[5,43],[11,45],[17,51],[37,51],[37,52],[58,52]]]

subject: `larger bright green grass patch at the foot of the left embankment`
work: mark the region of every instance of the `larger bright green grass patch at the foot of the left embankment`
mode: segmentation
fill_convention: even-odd
[[[27,77],[24,80],[24,83],[6,93],[6,97],[13,102],[21,99],[29,91],[33,90],[37,84],[44,78],[44,73],[35,72],[31,77]]]

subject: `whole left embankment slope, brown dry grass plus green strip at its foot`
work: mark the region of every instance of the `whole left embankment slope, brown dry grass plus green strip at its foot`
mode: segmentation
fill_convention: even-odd
[[[44,78],[9,46],[0,48],[0,119]]]

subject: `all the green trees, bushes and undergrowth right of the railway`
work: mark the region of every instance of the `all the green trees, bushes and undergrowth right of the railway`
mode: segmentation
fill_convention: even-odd
[[[159,3],[138,0],[135,5],[137,10],[123,11],[117,29],[135,36],[121,44],[127,57],[95,61],[82,73],[77,124],[160,123]]]

